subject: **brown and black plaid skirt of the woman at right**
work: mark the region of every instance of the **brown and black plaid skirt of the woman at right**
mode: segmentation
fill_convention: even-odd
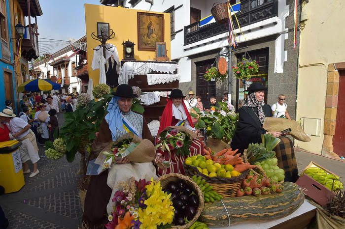
[[[284,181],[296,182],[298,169],[293,143],[287,137],[280,137],[280,140],[280,143],[274,149],[278,159],[278,167],[285,171]]]

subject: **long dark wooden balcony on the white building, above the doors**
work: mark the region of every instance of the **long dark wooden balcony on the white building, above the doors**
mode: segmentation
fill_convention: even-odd
[[[278,0],[266,0],[258,5],[257,0],[242,0],[241,12],[237,13],[237,19],[241,28],[278,15]],[[232,16],[235,29],[238,28],[236,18]],[[199,22],[184,27],[184,45],[192,44],[206,38],[228,32],[229,24],[216,22],[199,27]]]

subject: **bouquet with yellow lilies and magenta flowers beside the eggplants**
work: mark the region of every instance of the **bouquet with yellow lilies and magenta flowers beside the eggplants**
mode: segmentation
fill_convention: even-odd
[[[164,192],[160,182],[132,177],[120,186],[123,190],[112,199],[115,206],[107,229],[163,229],[173,222],[172,194]]]

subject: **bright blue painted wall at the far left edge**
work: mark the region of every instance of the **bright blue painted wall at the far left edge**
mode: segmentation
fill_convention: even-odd
[[[10,53],[11,53],[11,60],[13,59],[13,50],[12,50],[12,42],[11,42],[11,39],[10,37],[13,37],[12,36],[12,33],[11,33],[11,20],[10,20],[10,16],[12,15],[11,12],[10,12],[10,8],[9,8],[9,0],[6,0],[6,11],[7,11],[7,31],[8,31],[8,44],[9,44],[9,50],[10,50]],[[0,48],[0,57],[2,57],[2,53],[1,53],[1,48]],[[3,69],[7,69],[9,71],[12,72],[12,88],[11,88],[11,92],[13,94],[13,99],[14,99],[14,109],[16,110],[16,113],[18,113],[18,104],[17,104],[17,90],[16,90],[16,77],[17,75],[14,74],[14,68],[13,68],[13,65],[12,64],[9,64],[9,63],[6,63],[6,62],[3,62],[1,61],[0,59],[0,111],[2,111],[2,109],[4,109],[6,106],[5,106],[5,100],[7,98],[10,98],[9,95],[5,95],[5,84],[4,84],[4,78],[3,78]]]

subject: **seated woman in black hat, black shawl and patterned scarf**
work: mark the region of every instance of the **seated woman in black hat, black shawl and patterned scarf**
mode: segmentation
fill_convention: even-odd
[[[281,141],[275,148],[278,166],[285,171],[285,181],[295,182],[298,178],[298,170],[291,140],[282,137],[280,132],[268,132],[262,128],[265,117],[273,116],[271,106],[264,102],[267,87],[261,83],[253,83],[247,91],[246,101],[239,109],[240,120],[231,141],[231,147],[243,153],[250,143],[261,143],[262,134],[270,133],[280,138]]]

